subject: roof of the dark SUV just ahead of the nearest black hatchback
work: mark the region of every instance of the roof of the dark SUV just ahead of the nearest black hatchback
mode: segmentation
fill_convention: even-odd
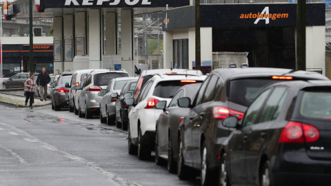
[[[308,72],[303,70],[291,70],[284,68],[223,68],[212,71],[223,77],[223,79],[241,79],[250,77],[268,77],[268,76],[294,76],[303,79],[323,79],[329,80],[326,76],[317,72]]]

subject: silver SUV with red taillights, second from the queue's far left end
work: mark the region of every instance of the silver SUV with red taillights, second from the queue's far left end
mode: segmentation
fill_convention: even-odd
[[[128,72],[125,71],[90,72],[83,84],[72,87],[72,90],[81,90],[78,97],[79,117],[83,117],[83,114],[85,114],[85,118],[91,118],[93,115],[99,116],[99,103],[96,100],[101,99],[101,96],[98,95],[100,90],[106,89],[112,79],[128,76]]]

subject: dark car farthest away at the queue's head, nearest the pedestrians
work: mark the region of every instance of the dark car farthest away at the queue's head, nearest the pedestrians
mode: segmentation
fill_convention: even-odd
[[[60,76],[55,85],[50,85],[52,110],[59,111],[61,107],[68,107],[71,78],[72,76]]]

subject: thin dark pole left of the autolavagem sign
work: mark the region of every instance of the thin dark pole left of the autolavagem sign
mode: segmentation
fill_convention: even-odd
[[[195,69],[201,69],[200,0],[195,0]]]

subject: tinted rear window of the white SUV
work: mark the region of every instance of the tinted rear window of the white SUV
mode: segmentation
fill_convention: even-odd
[[[197,81],[201,83],[202,81]],[[177,81],[161,81],[157,83],[157,86],[154,89],[153,96],[158,96],[164,99],[172,99],[174,94],[187,83],[182,83],[181,80]]]

